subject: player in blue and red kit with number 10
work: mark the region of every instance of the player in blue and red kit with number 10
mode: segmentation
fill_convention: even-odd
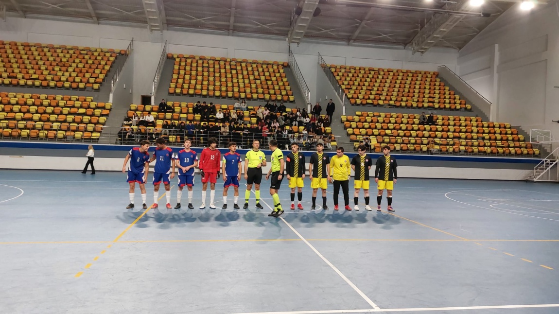
[[[178,170],[178,191],[177,191],[177,206],[175,209],[181,208],[182,189],[186,185],[188,189],[188,208],[192,210],[192,186],[194,185],[194,168],[198,166],[198,155],[196,151],[190,149],[192,142],[189,139],[184,139],[184,149],[175,154],[175,163]]]

